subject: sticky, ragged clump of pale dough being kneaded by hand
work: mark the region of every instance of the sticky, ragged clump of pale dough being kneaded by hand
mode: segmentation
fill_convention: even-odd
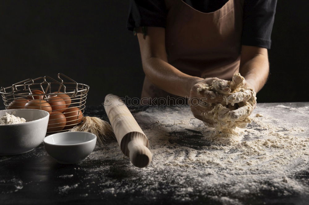
[[[221,103],[209,103],[201,116],[207,126],[214,127],[218,133],[232,135],[235,128],[245,128],[251,123],[249,115],[256,104],[256,93],[245,86],[245,79],[234,74],[232,81],[215,78],[210,84],[200,84],[197,92],[208,94],[211,99],[220,98]]]

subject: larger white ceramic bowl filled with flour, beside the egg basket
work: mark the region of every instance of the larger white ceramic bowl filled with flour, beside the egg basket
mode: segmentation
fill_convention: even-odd
[[[1,110],[0,117],[6,112],[26,119],[26,122],[0,125],[0,155],[23,154],[42,143],[49,120],[48,112],[35,109]]]

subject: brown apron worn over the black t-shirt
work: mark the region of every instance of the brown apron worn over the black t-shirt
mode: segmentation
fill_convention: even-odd
[[[168,63],[185,74],[230,80],[239,70],[243,9],[241,0],[200,12],[182,0],[165,0]],[[174,96],[145,77],[142,98]]]

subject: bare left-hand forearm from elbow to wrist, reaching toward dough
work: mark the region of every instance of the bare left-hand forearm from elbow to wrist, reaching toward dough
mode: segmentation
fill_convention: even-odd
[[[191,87],[202,80],[202,78],[184,74],[166,61],[156,57],[144,59],[143,70],[155,86],[181,97],[189,96]]]

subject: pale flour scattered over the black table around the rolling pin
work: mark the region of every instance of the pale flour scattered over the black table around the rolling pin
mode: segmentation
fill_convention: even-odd
[[[148,167],[133,167],[112,143],[86,160],[102,161],[102,166],[83,170],[89,173],[89,180],[99,180],[95,185],[104,187],[100,192],[104,195],[138,191],[152,200],[170,195],[174,202],[202,197],[222,204],[263,201],[269,194],[277,199],[306,195],[309,110],[301,107],[282,114],[282,109],[258,105],[253,115],[264,117],[253,117],[246,128],[236,128],[237,138],[220,141],[212,137],[214,128],[195,119],[188,107],[150,107],[134,114],[153,153]],[[111,160],[115,164],[105,163]],[[117,177],[102,180],[102,173]]]

